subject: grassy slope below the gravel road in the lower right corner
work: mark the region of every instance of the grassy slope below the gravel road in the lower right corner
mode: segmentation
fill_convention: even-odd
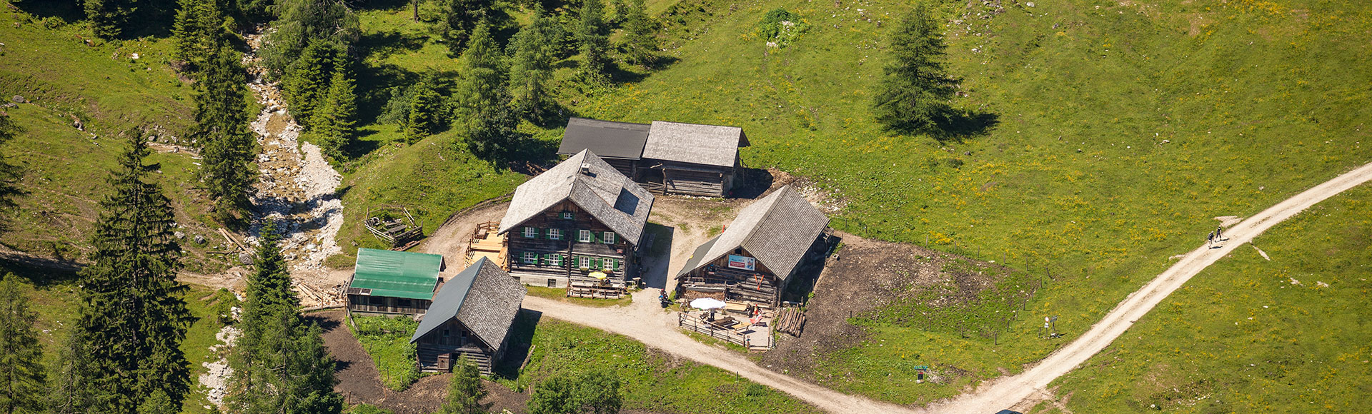
[[[1349,191],[1254,240],[1270,260],[1240,248],[1210,266],[1056,393],[1076,413],[1367,411],[1369,202]]]

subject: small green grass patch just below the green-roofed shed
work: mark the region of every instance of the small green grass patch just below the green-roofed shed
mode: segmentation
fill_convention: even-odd
[[[348,330],[372,356],[381,384],[394,391],[405,391],[420,378],[414,344],[410,336],[420,324],[410,317],[353,317]]]

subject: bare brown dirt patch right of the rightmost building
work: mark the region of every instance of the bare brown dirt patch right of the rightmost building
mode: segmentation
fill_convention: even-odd
[[[825,262],[815,282],[815,296],[805,310],[805,329],[800,337],[782,336],[777,348],[763,355],[763,366],[814,380],[820,358],[856,347],[867,337],[848,318],[911,297],[921,288],[934,284],[956,284],[962,295],[974,296],[995,284],[992,274],[1002,273],[995,265],[914,244],[868,240],[842,232],[836,232],[836,236],[842,239],[844,245]],[[971,271],[977,269],[992,271]]]

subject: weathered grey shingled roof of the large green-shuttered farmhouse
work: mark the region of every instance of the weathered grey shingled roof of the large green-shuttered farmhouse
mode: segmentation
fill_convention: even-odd
[[[584,173],[583,165],[587,169]],[[520,184],[501,219],[499,233],[509,232],[563,200],[572,200],[634,245],[643,236],[648,211],[653,208],[653,193],[620,174],[590,149],[583,149]]]

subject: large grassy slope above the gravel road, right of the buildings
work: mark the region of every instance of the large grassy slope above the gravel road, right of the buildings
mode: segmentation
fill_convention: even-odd
[[[811,29],[767,51],[749,33],[782,5]],[[873,125],[877,40],[906,10],[890,1],[668,8],[681,60],[573,110],[740,125],[753,143],[745,163],[816,178],[848,203],[840,229],[1052,271],[1000,345],[885,325],[826,361],[819,378],[834,388],[899,403],[1018,370],[1191,249],[1211,217],[1257,212],[1372,160],[1365,4],[1021,3],[989,21],[974,7],[943,11],[974,25],[949,25],[948,58],[970,95],[955,104],[999,115],[985,136],[940,143]],[[1033,340],[1032,321],[1054,314],[1067,337]],[[903,363],[967,376],[915,385]]]

